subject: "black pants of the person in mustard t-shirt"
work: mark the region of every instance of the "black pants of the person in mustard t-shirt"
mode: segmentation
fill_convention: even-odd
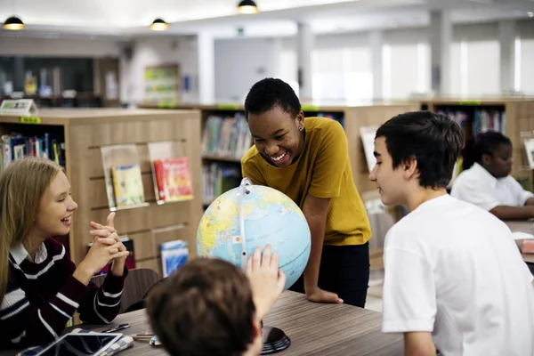
[[[319,287],[336,293],[344,303],[365,306],[369,283],[369,245],[324,246],[320,259]],[[289,288],[304,293],[301,276]]]

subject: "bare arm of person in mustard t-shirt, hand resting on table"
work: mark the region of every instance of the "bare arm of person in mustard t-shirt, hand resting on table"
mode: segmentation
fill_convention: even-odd
[[[315,198],[308,194],[304,199],[303,214],[312,233],[312,250],[304,270],[304,290],[312,302],[340,303],[339,297],[318,287],[320,257],[325,239],[329,198]]]

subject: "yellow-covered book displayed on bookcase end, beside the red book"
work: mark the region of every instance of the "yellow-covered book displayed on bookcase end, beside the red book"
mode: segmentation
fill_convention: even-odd
[[[139,165],[111,167],[115,206],[135,206],[145,202]]]

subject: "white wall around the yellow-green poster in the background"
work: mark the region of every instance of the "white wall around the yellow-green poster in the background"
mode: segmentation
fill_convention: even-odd
[[[132,58],[120,58],[120,98],[136,104],[145,100],[145,68],[160,64],[179,63],[182,77],[189,76],[190,93],[183,93],[182,101],[198,99],[198,57],[195,37],[150,37],[133,44]]]

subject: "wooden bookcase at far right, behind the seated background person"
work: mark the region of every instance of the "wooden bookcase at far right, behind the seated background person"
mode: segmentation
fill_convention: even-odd
[[[473,116],[475,110],[500,110],[506,114],[504,134],[514,146],[514,166],[512,175],[520,182],[525,182],[534,191],[533,171],[528,167],[526,152],[523,146],[523,136],[534,137],[534,98],[489,98],[484,100],[458,99],[430,99],[419,103],[420,109],[437,112],[443,109],[463,111]],[[465,133],[465,139],[471,137],[471,132]]]

